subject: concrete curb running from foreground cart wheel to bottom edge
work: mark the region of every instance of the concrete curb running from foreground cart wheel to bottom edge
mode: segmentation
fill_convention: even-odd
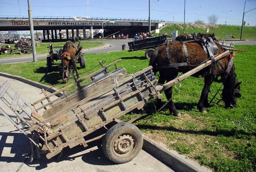
[[[167,149],[144,137],[143,150],[153,157],[171,167],[176,172],[204,172],[205,169],[199,169],[193,164],[178,157]],[[208,170],[207,170],[208,171]],[[210,171],[210,170],[209,170]]]

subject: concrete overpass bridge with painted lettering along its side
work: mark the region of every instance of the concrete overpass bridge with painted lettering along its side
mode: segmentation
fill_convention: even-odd
[[[47,39],[52,41],[58,41],[58,39],[62,40],[64,38],[63,30],[66,31],[66,39],[68,39],[70,36],[68,34],[70,30],[72,36],[78,37],[80,33],[79,30],[83,30],[82,34],[84,38],[86,37],[86,34],[90,34],[90,37],[93,38],[93,35],[95,34],[94,30],[101,29],[102,23],[107,20],[115,21],[110,21],[103,24],[104,31],[109,33],[115,33],[120,31],[120,33],[133,36],[135,33],[138,32],[148,32],[147,19],[47,16],[33,17],[34,30],[42,30],[43,40]],[[151,30],[158,29],[164,24],[165,21],[163,20],[151,20]],[[0,31],[22,30],[29,30],[28,17],[0,16]],[[76,31],[76,35],[74,31]]]

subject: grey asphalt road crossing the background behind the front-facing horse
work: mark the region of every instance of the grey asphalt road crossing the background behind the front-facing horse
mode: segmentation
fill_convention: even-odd
[[[127,42],[130,42],[131,40],[103,40],[103,43],[105,46],[102,47],[95,47],[91,49],[84,49],[84,53],[106,53],[106,52],[113,52],[113,51],[121,51],[122,50],[122,44],[126,44],[126,49],[128,49]],[[86,41],[86,42],[101,42],[101,40],[93,40],[93,41]],[[43,55],[37,55],[37,59],[46,59],[46,54]],[[31,62],[33,61],[33,56],[30,53],[26,56],[19,56],[19,57],[6,57],[6,58],[0,58],[0,64],[6,64],[6,63],[19,63],[19,62]]]

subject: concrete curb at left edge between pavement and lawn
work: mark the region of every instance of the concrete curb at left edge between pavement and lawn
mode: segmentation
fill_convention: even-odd
[[[46,85],[40,84],[40,83],[35,82],[33,80],[29,80],[29,79],[26,79],[26,78],[23,78],[23,77],[20,77],[20,76],[16,76],[16,75],[11,75],[11,74],[0,72],[0,76],[11,78],[11,79],[16,79],[16,80],[19,80],[23,83],[26,83],[28,85],[32,85],[32,86],[40,88],[40,89],[45,89],[45,90],[48,89],[47,92],[50,92],[50,93],[56,92],[56,90],[57,90],[54,87],[50,88]],[[63,94],[58,93],[58,94],[56,94],[56,96],[61,97],[61,96],[63,96]]]

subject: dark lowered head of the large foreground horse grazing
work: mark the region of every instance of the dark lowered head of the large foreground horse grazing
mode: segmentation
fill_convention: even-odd
[[[241,94],[240,94],[241,83],[242,82],[237,81],[235,67],[233,64],[232,69],[228,74],[226,81],[224,82],[224,88],[222,90],[222,99],[225,102],[226,108],[236,107],[237,98],[241,97]]]

